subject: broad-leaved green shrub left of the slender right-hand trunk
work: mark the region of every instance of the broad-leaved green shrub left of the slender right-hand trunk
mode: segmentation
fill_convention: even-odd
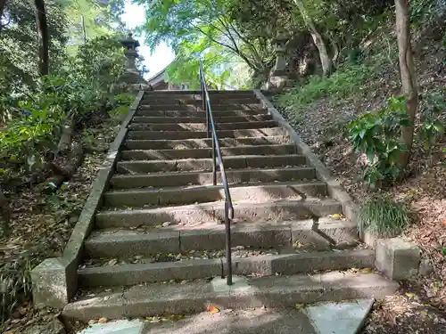
[[[371,187],[394,181],[401,173],[398,167],[401,151],[401,126],[409,126],[404,97],[392,97],[387,108],[368,112],[351,122],[350,138],[356,151],[368,158],[364,177]]]

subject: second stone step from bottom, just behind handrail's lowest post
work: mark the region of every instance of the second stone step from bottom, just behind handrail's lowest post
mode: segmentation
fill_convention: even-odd
[[[224,252],[222,252],[224,254]],[[293,275],[315,271],[372,268],[375,254],[371,249],[322,251],[300,254],[260,255],[234,257],[232,268],[235,275],[270,276]],[[224,258],[180,260],[147,264],[103,265],[78,270],[81,287],[129,286],[138,283],[182,281],[221,277],[226,272]]]

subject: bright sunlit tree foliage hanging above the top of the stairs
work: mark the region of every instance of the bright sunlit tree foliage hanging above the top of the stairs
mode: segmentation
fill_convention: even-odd
[[[224,86],[236,73],[234,62],[244,62],[260,73],[270,69],[274,61],[272,44],[268,37],[248,36],[228,8],[232,2],[221,0],[163,0],[147,5],[144,31],[153,48],[161,42],[171,46],[177,54],[169,69],[169,81],[197,86],[197,63],[201,56],[207,77]],[[266,79],[266,77],[264,78]]]

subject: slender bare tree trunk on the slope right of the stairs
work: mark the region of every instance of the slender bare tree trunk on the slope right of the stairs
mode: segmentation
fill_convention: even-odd
[[[406,167],[409,163],[410,153],[412,151],[414,139],[413,124],[418,104],[417,77],[412,56],[412,48],[410,47],[409,0],[395,0],[395,12],[402,94],[407,98],[407,116],[410,121],[410,126],[403,126],[401,136],[402,143],[407,146],[408,150],[401,154],[400,164],[401,167]]]

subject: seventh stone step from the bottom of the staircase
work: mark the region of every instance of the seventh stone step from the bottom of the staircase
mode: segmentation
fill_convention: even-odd
[[[223,159],[225,168],[273,168],[302,166],[306,163],[304,156],[297,154],[274,156],[226,156]],[[120,174],[211,171],[212,159],[177,159],[177,160],[132,160],[119,161],[116,170]]]

